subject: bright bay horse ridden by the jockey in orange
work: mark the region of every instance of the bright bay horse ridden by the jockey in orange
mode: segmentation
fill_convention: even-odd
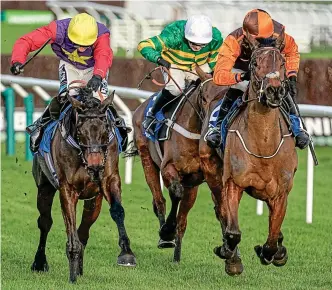
[[[224,154],[208,147],[203,138],[200,141],[202,170],[215,197],[223,234],[223,245],[214,252],[225,259],[229,275],[243,271],[238,252],[238,208],[243,191],[265,201],[270,211],[267,241],[255,247],[261,263],[286,264],[288,255],[282,244],[281,225],[298,162],[294,139],[279,110],[287,84],[284,58],[278,46],[258,47],[254,41],[251,43],[247,105],[228,130]],[[203,129],[202,136],[206,131]],[[221,184],[222,191],[216,184]]]

